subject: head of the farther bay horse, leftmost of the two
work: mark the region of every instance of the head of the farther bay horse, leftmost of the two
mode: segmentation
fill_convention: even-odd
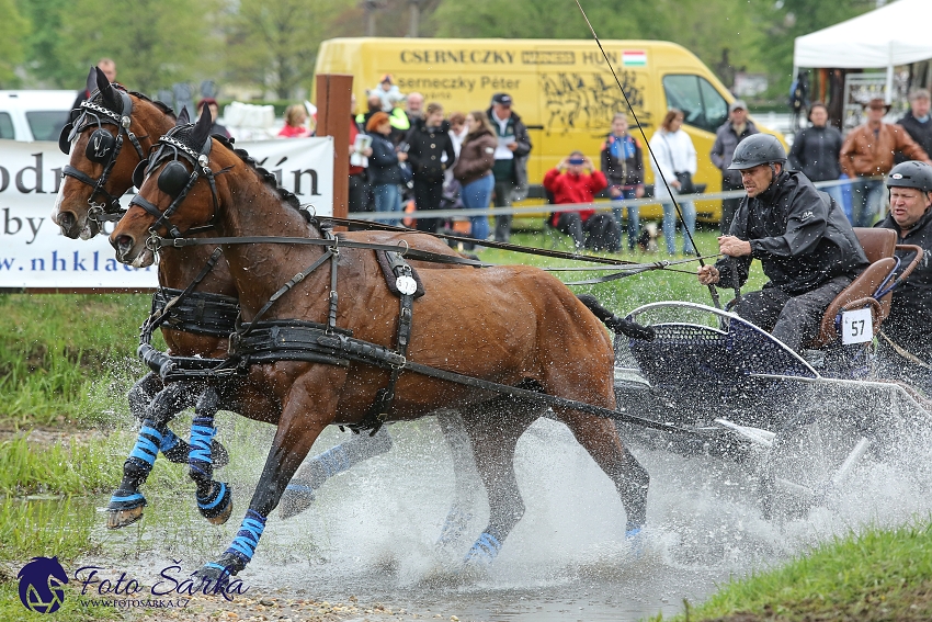
[[[120,197],[133,185],[133,170],[155,142],[151,137],[173,122],[167,106],[110,83],[96,67],[88,73],[87,88],[90,98],[71,111],[58,138],[71,158],[52,211],[64,235],[82,239],[123,213]]]

